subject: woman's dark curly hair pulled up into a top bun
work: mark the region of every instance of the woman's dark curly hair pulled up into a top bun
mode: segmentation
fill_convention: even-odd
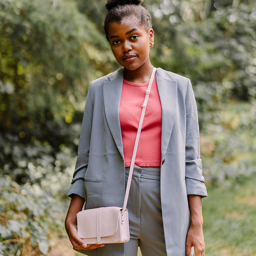
[[[134,16],[143,25],[146,31],[151,29],[151,16],[149,12],[140,4],[143,0],[108,0],[105,7],[108,10],[104,22],[104,31],[107,40],[108,28],[111,22],[121,22],[123,18]]]

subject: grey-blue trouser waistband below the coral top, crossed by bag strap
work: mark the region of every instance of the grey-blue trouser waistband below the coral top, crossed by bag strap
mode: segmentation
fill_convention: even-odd
[[[125,168],[126,175],[129,175],[130,166]],[[133,177],[150,180],[160,180],[160,168],[134,166]]]

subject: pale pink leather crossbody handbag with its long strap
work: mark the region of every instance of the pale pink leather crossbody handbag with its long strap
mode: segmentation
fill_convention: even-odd
[[[126,209],[130,185],[133,175],[134,162],[136,158],[141,127],[148,104],[148,98],[155,76],[156,68],[153,68],[146,96],[142,105],[141,119],[139,122],[137,136],[133,149],[133,156],[130,165],[130,172],[126,185],[126,192],[123,207],[100,207],[85,210],[85,203],[82,211],[77,213],[77,231],[80,238],[87,244],[108,244],[108,243],[124,243],[130,239],[128,210]]]

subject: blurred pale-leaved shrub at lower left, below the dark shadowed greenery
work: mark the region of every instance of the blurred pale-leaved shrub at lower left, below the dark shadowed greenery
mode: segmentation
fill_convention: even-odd
[[[47,254],[51,234],[63,232],[74,154],[62,145],[53,157],[49,144],[24,145],[10,135],[1,141],[1,158],[13,162],[0,168],[0,255]]]

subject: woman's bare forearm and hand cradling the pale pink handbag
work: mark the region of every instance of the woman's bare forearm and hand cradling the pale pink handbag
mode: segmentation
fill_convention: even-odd
[[[70,202],[69,210],[65,219],[65,228],[74,249],[90,250],[104,246],[104,244],[87,245],[77,234],[76,214],[82,210],[84,199],[79,195],[73,195]]]

